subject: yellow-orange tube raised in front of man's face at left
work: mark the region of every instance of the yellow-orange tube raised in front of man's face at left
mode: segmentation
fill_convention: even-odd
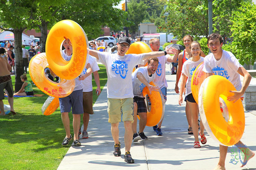
[[[61,56],[61,44],[70,39],[73,54],[70,61]],[[46,39],[46,56],[52,71],[60,78],[71,80],[83,71],[87,54],[87,36],[82,27],[72,20],[62,20],[50,30]]]

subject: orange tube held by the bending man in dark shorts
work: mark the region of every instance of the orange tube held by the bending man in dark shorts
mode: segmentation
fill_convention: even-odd
[[[153,82],[150,82],[152,86],[156,86]],[[143,96],[148,95],[151,101],[151,109],[147,112],[147,123],[146,126],[155,126],[162,119],[165,114],[165,100],[163,99],[163,94],[159,89],[157,91],[152,91],[149,94],[148,87],[143,89]]]

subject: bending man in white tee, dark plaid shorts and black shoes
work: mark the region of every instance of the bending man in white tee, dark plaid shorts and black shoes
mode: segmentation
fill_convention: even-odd
[[[154,87],[149,83],[155,80],[155,71],[157,70],[158,59],[148,59],[148,66],[137,68],[132,76],[133,81],[133,102],[134,102],[134,122],[132,123],[133,128],[133,142],[140,139],[147,140],[148,137],[144,134],[144,129],[147,123],[147,108],[145,98],[143,96],[144,87],[148,87],[149,91],[157,90],[158,87]],[[137,133],[137,114],[140,116],[139,121],[139,134]]]

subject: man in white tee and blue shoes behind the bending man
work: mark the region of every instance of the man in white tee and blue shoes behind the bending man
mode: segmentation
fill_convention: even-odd
[[[160,48],[160,42],[159,39],[153,38],[149,41],[149,45],[153,51],[159,51]],[[156,71],[156,78],[155,78],[155,83],[157,83],[158,87],[161,89],[165,102],[167,100],[167,81],[165,79],[165,63],[170,64],[171,62],[175,62],[178,58],[178,53],[175,54],[174,56],[170,55],[162,55],[160,57],[157,57],[159,60],[158,63],[158,68]],[[153,126],[154,131],[157,133],[158,136],[163,135],[162,130],[161,130],[161,125],[162,125],[163,119],[158,123],[158,125]]]

